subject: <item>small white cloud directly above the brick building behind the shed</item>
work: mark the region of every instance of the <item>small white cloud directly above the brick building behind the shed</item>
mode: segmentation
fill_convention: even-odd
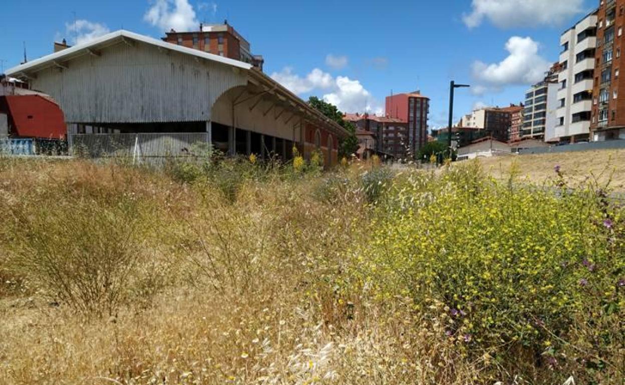
[[[143,19],[163,31],[194,31],[199,27],[196,12],[188,0],[156,0]]]

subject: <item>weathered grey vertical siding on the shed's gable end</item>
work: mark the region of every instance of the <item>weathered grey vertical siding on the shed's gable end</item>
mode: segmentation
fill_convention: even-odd
[[[46,69],[32,80],[57,100],[66,122],[81,123],[211,120],[215,100],[245,84],[244,71],[141,42],[120,42],[100,57],[79,57],[67,69]]]

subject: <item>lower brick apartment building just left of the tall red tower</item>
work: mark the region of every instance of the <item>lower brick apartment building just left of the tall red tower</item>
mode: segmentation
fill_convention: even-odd
[[[408,122],[369,114],[344,114],[343,119],[352,122],[357,129],[371,132],[376,140],[376,152],[379,154],[390,155],[396,159],[404,159],[411,155],[407,139]]]

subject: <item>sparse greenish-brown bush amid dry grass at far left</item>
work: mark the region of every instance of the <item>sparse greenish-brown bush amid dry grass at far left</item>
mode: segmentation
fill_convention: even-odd
[[[32,207],[8,214],[9,266],[53,301],[88,314],[113,314],[140,253],[132,198],[115,205],[94,200]]]

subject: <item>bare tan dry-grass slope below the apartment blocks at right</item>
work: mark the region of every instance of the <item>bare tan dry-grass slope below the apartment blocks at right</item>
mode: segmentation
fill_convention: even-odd
[[[612,188],[625,191],[625,150],[596,150],[559,154],[522,155],[481,158],[484,170],[499,179],[507,179],[516,162],[517,172],[531,182],[542,183],[554,177],[554,167],[560,165],[567,177],[582,181],[591,175],[602,175],[600,182],[612,177]]]

